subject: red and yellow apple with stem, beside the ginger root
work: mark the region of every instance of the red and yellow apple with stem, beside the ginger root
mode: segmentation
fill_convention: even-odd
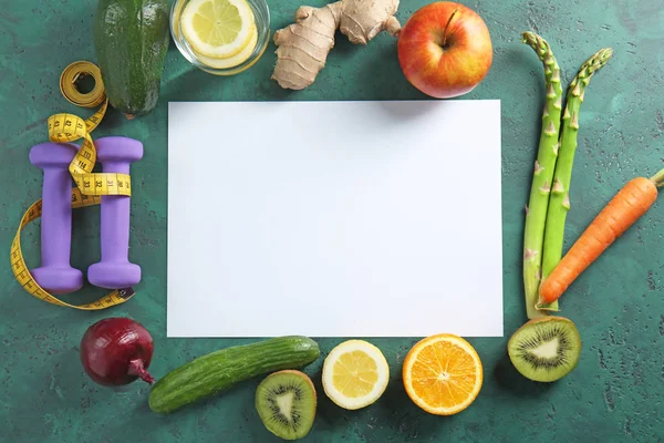
[[[419,91],[436,99],[470,92],[489,72],[491,37],[470,8],[449,1],[417,10],[398,34],[398,62]]]

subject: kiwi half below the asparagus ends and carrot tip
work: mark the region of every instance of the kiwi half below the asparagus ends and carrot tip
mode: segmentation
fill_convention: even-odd
[[[581,354],[581,336],[574,323],[562,317],[543,317],[523,324],[507,343],[517,371],[541,382],[563,378]]]

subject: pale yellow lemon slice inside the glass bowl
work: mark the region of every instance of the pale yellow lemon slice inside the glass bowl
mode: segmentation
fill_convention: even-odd
[[[180,24],[189,45],[212,59],[240,53],[256,32],[253,11],[246,0],[191,0]]]

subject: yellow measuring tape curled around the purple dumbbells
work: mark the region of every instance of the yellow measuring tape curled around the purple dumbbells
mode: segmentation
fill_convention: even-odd
[[[92,75],[95,81],[94,89],[82,94],[76,89],[76,81],[82,75]],[[49,140],[54,143],[70,143],[83,138],[69,171],[76,184],[72,189],[72,208],[98,205],[102,195],[132,195],[132,181],[127,174],[93,173],[96,163],[96,151],[90,133],[101,123],[108,99],[104,92],[102,73],[91,62],[74,62],[65,68],[60,78],[60,91],[71,103],[83,107],[101,106],[94,115],[83,120],[72,114],[55,114],[49,117]],[[134,296],[132,288],[114,290],[101,299],[85,305],[70,305],[49,293],[34,280],[23,254],[21,253],[21,230],[31,222],[41,217],[42,202],[35,202],[28,208],[11,244],[11,268],[17,280],[28,292],[52,305],[64,306],[81,310],[100,310],[111,306],[124,303]]]

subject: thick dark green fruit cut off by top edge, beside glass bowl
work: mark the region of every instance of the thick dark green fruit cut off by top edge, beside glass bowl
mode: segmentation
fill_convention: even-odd
[[[111,105],[127,117],[157,105],[168,50],[168,0],[98,0],[93,41]]]

